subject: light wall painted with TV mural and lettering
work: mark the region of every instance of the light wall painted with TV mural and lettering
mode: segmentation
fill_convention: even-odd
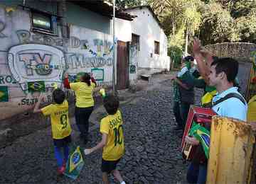
[[[108,34],[75,25],[70,25],[70,38],[33,33],[29,11],[0,7],[0,40],[0,120],[33,108],[40,93],[51,102],[65,72],[71,81],[83,71],[100,86],[112,84]]]

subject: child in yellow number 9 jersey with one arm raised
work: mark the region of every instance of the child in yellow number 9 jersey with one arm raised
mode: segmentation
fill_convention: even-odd
[[[41,100],[43,100],[42,95],[38,98],[33,112],[43,113],[45,116],[50,115],[55,158],[57,159],[58,173],[62,175],[65,171],[65,162],[68,161],[68,144],[71,142],[71,127],[68,120],[68,101],[65,100],[64,91],[59,88],[53,91],[53,104],[39,109]],[[64,158],[61,149],[64,149]]]

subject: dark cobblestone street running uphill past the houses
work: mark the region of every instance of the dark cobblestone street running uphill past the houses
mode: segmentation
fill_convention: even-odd
[[[121,103],[124,119],[126,152],[119,169],[127,183],[183,183],[186,163],[183,163],[179,145],[182,132],[175,132],[172,113],[171,81],[159,75],[156,85],[137,91]],[[160,78],[159,78],[160,77]],[[99,110],[101,108],[101,110]],[[102,107],[95,110],[97,120],[104,115]],[[96,115],[95,115],[96,114]],[[36,122],[35,122],[36,123]],[[73,142],[78,139],[73,123]],[[99,123],[90,127],[90,142],[100,142]],[[0,183],[101,183],[101,153],[84,156],[85,166],[75,181],[56,177],[56,161],[50,128],[17,139],[0,150]],[[112,183],[117,183],[111,177]]]

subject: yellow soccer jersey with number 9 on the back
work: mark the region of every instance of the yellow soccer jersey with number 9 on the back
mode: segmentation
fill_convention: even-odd
[[[50,104],[41,110],[43,115],[50,115],[53,139],[63,139],[71,134],[67,100],[62,104]]]

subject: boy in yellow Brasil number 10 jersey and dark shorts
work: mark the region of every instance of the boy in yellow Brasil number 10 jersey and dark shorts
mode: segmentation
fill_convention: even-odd
[[[116,169],[117,163],[124,155],[124,132],[122,114],[119,108],[117,97],[109,95],[103,98],[104,107],[108,115],[102,118],[100,122],[100,132],[102,141],[91,149],[85,149],[85,154],[90,154],[97,149],[103,148],[102,153],[102,180],[109,183],[108,174],[112,173],[115,178],[125,184],[119,171]]]

